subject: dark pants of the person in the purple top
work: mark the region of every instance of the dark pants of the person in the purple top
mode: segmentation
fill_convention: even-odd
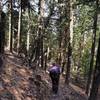
[[[58,86],[59,86],[59,74],[55,72],[50,72],[50,77],[52,80],[52,91],[53,93],[57,94]]]

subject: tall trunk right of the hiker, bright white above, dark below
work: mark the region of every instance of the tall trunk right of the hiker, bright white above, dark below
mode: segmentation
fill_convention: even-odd
[[[70,79],[70,69],[71,69],[71,60],[72,60],[72,41],[73,41],[73,2],[72,0],[68,1],[68,6],[69,6],[69,29],[67,29],[67,34],[68,34],[68,61],[67,61],[67,70],[66,70],[66,79],[65,83],[69,84],[69,79]]]

